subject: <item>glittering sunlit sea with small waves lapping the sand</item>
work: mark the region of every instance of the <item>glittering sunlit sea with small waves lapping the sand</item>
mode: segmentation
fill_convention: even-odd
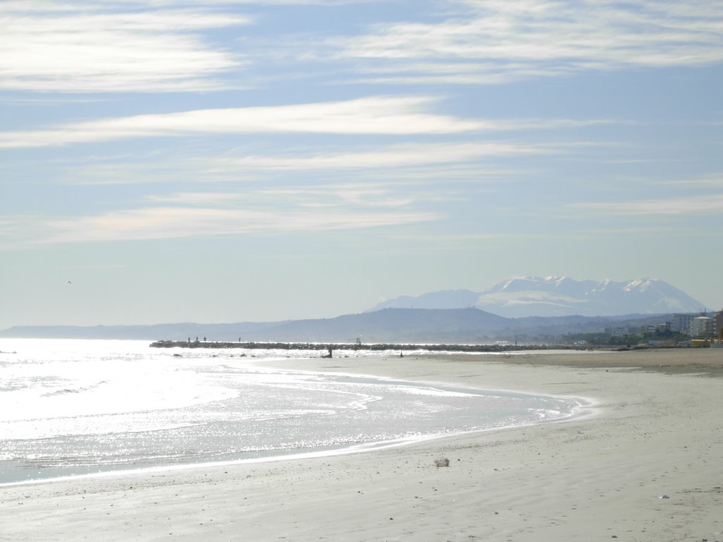
[[[0,339],[0,484],[371,451],[560,421],[581,406],[570,397],[274,368],[319,355]]]

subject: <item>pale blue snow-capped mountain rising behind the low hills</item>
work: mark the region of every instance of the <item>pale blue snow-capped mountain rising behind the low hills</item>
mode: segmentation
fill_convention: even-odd
[[[482,292],[450,290],[401,296],[373,307],[454,309],[474,306],[504,317],[615,316],[697,312],[703,304],[663,280],[623,282],[567,277],[510,278]]]

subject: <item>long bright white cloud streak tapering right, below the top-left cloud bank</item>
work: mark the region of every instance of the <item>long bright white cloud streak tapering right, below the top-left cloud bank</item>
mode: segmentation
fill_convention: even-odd
[[[54,129],[0,132],[0,148],[188,134],[456,134],[505,126],[504,122],[466,120],[432,113],[429,106],[434,101],[434,98],[424,97],[374,97],[293,106],[127,116],[65,124]]]

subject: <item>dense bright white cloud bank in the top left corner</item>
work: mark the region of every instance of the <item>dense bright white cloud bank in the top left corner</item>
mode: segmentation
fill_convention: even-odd
[[[114,2],[0,3],[0,89],[54,93],[182,92],[226,87],[244,59],[207,30],[249,17]],[[164,3],[164,5],[167,3]],[[208,7],[208,5],[207,5]]]

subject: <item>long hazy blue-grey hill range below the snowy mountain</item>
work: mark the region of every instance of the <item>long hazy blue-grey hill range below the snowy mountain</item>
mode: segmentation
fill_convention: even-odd
[[[605,327],[657,324],[665,315],[627,317],[505,318],[480,309],[382,309],[329,319],[236,324],[158,324],[149,326],[12,327],[0,337],[195,340],[299,343],[494,343],[535,342],[568,333],[601,332]]]

